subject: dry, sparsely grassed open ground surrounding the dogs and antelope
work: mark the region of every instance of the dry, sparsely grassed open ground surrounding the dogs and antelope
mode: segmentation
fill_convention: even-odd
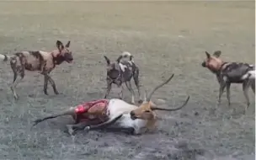
[[[2,2],[0,51],[50,51],[56,40],[67,43],[75,61],[51,73],[61,92],[43,93],[43,77],[27,72],[14,102],[9,84],[13,73],[0,64],[0,159],[254,159],[254,99],[243,115],[242,87],[232,85],[216,110],[216,77],[201,67],[205,51],[222,51],[226,61],[254,63],[253,2]],[[32,120],[105,92],[104,55],[115,60],[130,51],[141,68],[141,85],[151,89],[170,74],[171,83],[153,96],[182,110],[164,113],[155,133],[80,131],[68,136],[71,117],[45,121],[30,131]],[[133,85],[135,88],[135,85]],[[116,87],[114,87],[116,88]],[[142,88],[143,89],[143,88]],[[111,97],[117,97],[117,89]],[[137,94],[136,94],[137,95]],[[125,99],[130,93],[125,90]]]

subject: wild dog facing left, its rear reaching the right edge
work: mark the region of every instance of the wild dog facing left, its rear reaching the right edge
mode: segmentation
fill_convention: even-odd
[[[201,64],[202,67],[207,67],[211,72],[216,74],[220,84],[218,104],[221,104],[221,95],[227,87],[227,101],[230,105],[230,86],[231,83],[243,83],[243,94],[245,96],[247,107],[250,104],[248,98],[248,88],[253,89],[255,93],[255,66],[242,62],[225,62],[222,61],[221,51],[215,51],[212,56],[205,51],[206,60]]]

